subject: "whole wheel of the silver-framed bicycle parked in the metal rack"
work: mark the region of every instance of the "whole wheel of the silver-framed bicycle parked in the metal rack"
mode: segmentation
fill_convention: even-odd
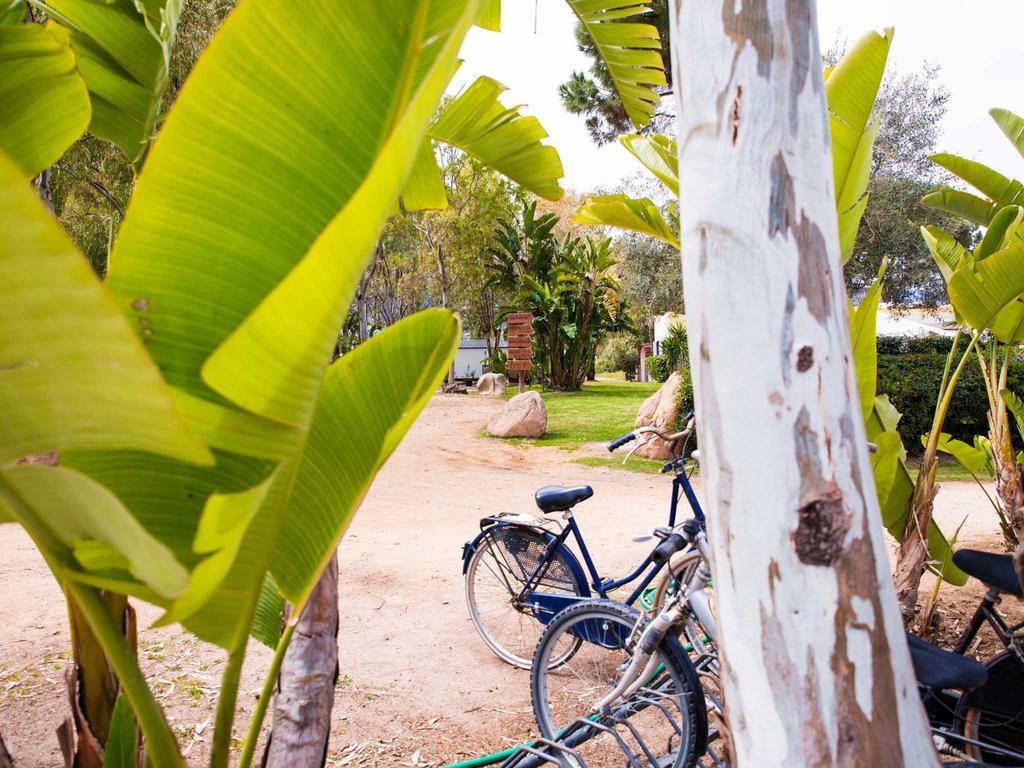
[[[538,642],[530,676],[538,728],[546,738],[561,736],[588,768],[634,765],[624,763],[627,755],[645,767],[688,768],[703,751],[708,722],[700,684],[678,642],[663,643],[659,666],[640,690],[607,712],[595,710],[629,664],[626,641],[639,618],[621,603],[586,600],[555,616]],[[582,647],[552,669],[550,659],[581,639]],[[581,719],[597,725],[572,725]]]

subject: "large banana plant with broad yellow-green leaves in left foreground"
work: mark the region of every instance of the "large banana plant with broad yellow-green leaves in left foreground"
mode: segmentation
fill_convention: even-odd
[[[214,766],[249,637],[274,645],[250,765],[295,629],[281,603],[301,614],[454,353],[457,319],[428,310],[327,362],[476,18],[467,0],[244,0],[148,155],[105,286],[0,160],[0,514],[82,610],[156,766],[183,761],[100,590],[227,652]],[[59,467],[13,463],[51,450]]]

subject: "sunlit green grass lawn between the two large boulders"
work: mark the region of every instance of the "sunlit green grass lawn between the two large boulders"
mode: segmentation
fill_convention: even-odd
[[[659,386],[628,381],[589,381],[579,392],[541,392],[548,409],[548,433],[529,442],[569,451],[585,442],[610,442],[633,429],[640,403]],[[518,391],[516,387],[509,387],[508,396]]]

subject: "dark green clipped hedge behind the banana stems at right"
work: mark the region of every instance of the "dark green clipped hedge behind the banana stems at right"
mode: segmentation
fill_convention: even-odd
[[[881,350],[881,343],[879,348]],[[896,410],[903,414],[899,421],[899,433],[911,454],[922,452],[921,436],[931,429],[945,364],[945,354],[936,352],[879,354],[878,392],[888,394]],[[1010,364],[1007,385],[1012,391],[1024,395],[1024,362]],[[942,431],[971,442],[974,435],[987,434],[987,414],[985,382],[977,359],[971,359],[956,383]]]

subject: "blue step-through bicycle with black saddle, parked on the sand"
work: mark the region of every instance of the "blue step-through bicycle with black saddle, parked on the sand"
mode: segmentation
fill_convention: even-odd
[[[663,471],[672,471],[675,475],[669,529],[676,525],[681,497],[685,497],[697,519],[703,520],[700,504],[685,471],[686,445],[693,434],[693,420],[687,419],[686,428],[681,432],[666,434],[654,427],[640,427],[608,445],[609,452],[614,451],[648,435],[657,435],[668,442],[674,458]],[[590,485],[543,487],[535,496],[537,506],[545,515],[561,513],[564,524],[553,517],[493,515],[480,520],[480,532],[464,545],[462,567],[469,613],[480,637],[499,658],[529,669],[545,625],[562,609],[591,597],[607,598],[609,593],[638,580],[626,604],[640,600],[643,607],[653,609],[655,596],[664,595],[665,585],[675,581],[663,578],[651,587],[659,573],[667,574],[663,573],[665,563],[654,562],[649,554],[626,577],[609,579],[600,574],[572,514],[577,504],[593,495]],[[667,535],[666,529],[656,532],[663,537]],[[570,537],[575,541],[583,564],[568,547]],[[694,555],[694,562],[695,558]],[[674,562],[672,573],[687,566],[686,562]],[[652,598],[655,602],[651,602]],[[580,640],[550,658],[550,668],[571,658],[582,642]]]

